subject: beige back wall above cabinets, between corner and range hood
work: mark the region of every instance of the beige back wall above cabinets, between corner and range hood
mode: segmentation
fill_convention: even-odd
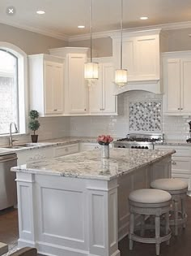
[[[90,47],[90,40],[70,41],[71,47]],[[112,56],[112,38],[96,38],[92,41],[93,57],[110,57]]]

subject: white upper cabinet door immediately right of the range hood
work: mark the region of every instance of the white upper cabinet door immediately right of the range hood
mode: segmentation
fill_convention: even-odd
[[[163,62],[163,111],[180,115],[180,59]]]

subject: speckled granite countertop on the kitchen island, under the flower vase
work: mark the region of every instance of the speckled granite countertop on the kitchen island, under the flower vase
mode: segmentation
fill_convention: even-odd
[[[110,158],[100,158],[100,150],[50,158],[12,167],[11,171],[83,179],[112,180],[174,154],[175,150],[111,149]]]

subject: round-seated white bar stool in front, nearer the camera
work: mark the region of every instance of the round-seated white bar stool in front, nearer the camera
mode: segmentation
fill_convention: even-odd
[[[159,189],[138,189],[129,194],[129,249],[133,249],[134,241],[155,244],[156,255],[159,255],[160,244],[167,241],[169,244],[171,231],[169,228],[169,210],[171,207],[172,196]],[[155,237],[148,238],[138,236],[134,233],[134,215],[139,214],[142,219],[145,215],[155,215]],[[160,236],[160,216],[165,214],[165,235]],[[143,221],[142,221],[143,223]],[[143,229],[143,227],[142,227]]]

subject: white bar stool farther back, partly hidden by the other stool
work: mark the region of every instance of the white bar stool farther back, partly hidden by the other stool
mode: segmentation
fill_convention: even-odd
[[[187,215],[185,212],[185,199],[188,192],[188,184],[180,179],[159,179],[151,182],[151,188],[162,189],[172,195],[174,204],[174,219],[170,220],[170,225],[175,227],[175,236],[178,235],[178,226],[185,228]],[[181,203],[180,210],[178,204]]]

